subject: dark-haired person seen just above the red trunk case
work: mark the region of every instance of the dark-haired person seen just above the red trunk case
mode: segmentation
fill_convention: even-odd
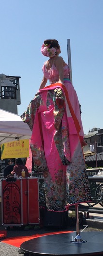
[[[15,166],[13,168],[13,171],[11,171],[11,174],[13,175],[16,173],[16,175],[22,176],[22,170],[25,171],[25,177],[29,177],[29,172],[26,166],[24,166],[23,161],[21,158],[16,158],[15,159]]]

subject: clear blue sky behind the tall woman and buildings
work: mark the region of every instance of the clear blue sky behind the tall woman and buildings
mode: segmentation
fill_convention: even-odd
[[[21,76],[21,115],[39,89],[44,57],[40,48],[54,38],[67,59],[84,133],[103,128],[103,0],[0,0],[0,74]],[[49,81],[47,85],[49,84]]]

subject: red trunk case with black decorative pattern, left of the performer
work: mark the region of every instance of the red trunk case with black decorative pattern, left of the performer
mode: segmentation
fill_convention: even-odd
[[[38,178],[1,179],[2,225],[39,224]]]

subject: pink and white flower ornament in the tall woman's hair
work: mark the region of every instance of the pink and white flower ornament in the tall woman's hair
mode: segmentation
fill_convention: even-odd
[[[44,56],[54,57],[56,55],[56,52],[58,52],[58,49],[55,49],[54,47],[50,48],[50,45],[43,43],[43,45],[41,47],[41,53]]]

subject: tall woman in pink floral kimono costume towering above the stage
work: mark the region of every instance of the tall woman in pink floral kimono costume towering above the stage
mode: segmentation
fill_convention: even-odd
[[[91,201],[81,110],[58,41],[45,40],[41,53],[49,58],[43,79],[21,118],[32,131],[34,165],[43,168],[47,210],[66,211],[70,204]]]

